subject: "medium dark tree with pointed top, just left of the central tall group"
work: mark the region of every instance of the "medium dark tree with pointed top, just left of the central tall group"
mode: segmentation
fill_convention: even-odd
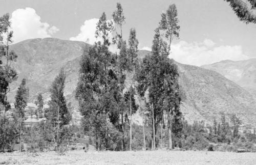
[[[49,108],[45,111],[45,117],[53,128],[54,137],[56,144],[56,151],[59,151],[59,146],[62,143],[62,139],[59,136],[60,130],[63,126],[68,125],[71,120],[71,114],[68,110],[66,99],[64,96],[66,74],[63,68],[59,74],[55,77],[50,88],[51,100],[48,102]]]

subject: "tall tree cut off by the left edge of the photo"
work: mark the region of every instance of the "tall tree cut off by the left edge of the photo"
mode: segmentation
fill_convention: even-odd
[[[10,104],[7,101],[7,94],[10,91],[9,85],[12,81],[17,79],[17,73],[14,68],[11,67],[13,61],[16,61],[17,55],[13,50],[9,49],[9,45],[12,43],[13,31],[11,29],[11,22],[9,14],[5,14],[0,17],[0,120],[2,120],[0,134],[2,144],[0,149],[5,150],[7,146],[7,120],[6,112],[10,109]]]

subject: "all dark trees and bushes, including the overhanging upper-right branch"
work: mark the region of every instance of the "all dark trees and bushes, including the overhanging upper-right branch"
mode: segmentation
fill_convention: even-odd
[[[227,1],[227,0],[226,0]],[[227,1],[241,20],[255,23],[255,2],[251,9],[240,1]],[[248,4],[247,4],[248,5]],[[0,17],[0,151],[13,151],[13,146],[29,144],[31,151],[65,151],[81,134],[88,135],[90,144],[101,150],[137,150],[167,147],[169,150],[205,149],[209,143],[244,145],[253,148],[253,132],[239,131],[242,124],[236,115],[229,122],[222,114],[213,126],[204,121],[189,124],[184,120],[180,105],[179,72],[172,56],[172,42],[179,38],[180,26],[175,4],[161,14],[152,41],[152,51],[139,60],[136,30],[131,28],[127,41],[123,38],[125,16],[120,3],[108,20],[103,12],[96,25],[99,39],[83,51],[79,79],[75,91],[82,115],[80,126],[71,124],[72,112],[64,96],[66,73],[62,68],[49,89],[50,100],[44,105],[42,94],[37,95],[37,109],[31,113],[39,120],[26,125],[26,106],[29,101],[27,80],[17,89],[14,107],[7,94],[11,82],[17,79],[12,67],[17,55],[10,50],[13,32],[9,14]],[[113,36],[114,37],[111,37]],[[110,51],[115,45],[117,53]],[[11,115],[7,116],[7,112]],[[136,113],[142,114],[142,126],[133,122]],[[82,129],[81,129],[82,128]],[[166,136],[167,134],[167,136]],[[239,144],[243,143],[243,144]],[[230,146],[229,146],[230,147]]]

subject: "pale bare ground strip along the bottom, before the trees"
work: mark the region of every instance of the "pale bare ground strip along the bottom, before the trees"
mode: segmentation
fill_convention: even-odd
[[[206,151],[68,151],[0,153],[0,164],[256,164],[256,153]]]

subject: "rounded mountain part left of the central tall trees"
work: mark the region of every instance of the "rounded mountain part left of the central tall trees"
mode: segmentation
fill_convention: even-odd
[[[18,55],[17,61],[12,64],[18,73],[18,79],[12,82],[8,99],[14,102],[17,88],[22,79],[26,78],[30,94],[29,101],[34,103],[37,94],[42,93],[47,103],[50,98],[49,88],[55,76],[64,67],[67,73],[64,91],[66,99],[76,108],[74,90],[78,81],[79,61],[83,50],[89,46],[84,42],[54,38],[30,39],[11,45],[10,48]],[[77,119],[81,116],[78,111],[74,111],[73,117]]]

